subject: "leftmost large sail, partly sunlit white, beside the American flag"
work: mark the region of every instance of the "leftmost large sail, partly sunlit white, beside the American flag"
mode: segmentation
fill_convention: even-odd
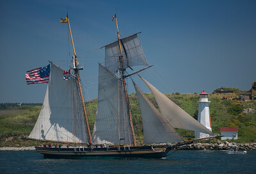
[[[52,63],[44,104],[29,138],[88,142],[77,81],[64,81],[63,70]]]

